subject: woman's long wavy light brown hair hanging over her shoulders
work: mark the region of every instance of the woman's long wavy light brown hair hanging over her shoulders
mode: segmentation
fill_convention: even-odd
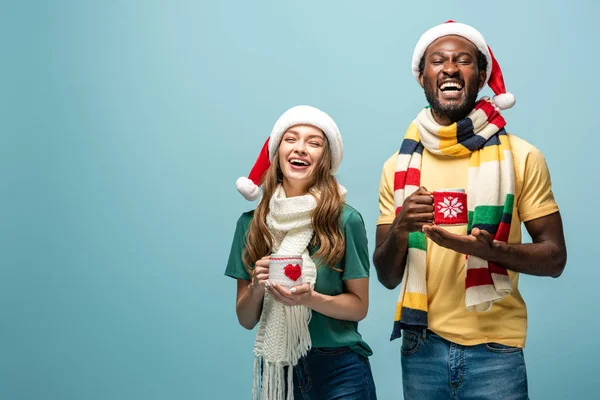
[[[283,181],[283,173],[279,165],[279,149],[275,152],[273,162],[265,172],[262,184],[263,195],[254,210],[254,218],[248,230],[247,244],[243,260],[246,268],[254,268],[254,263],[262,257],[271,254],[273,242],[267,228],[269,201]],[[317,162],[309,193],[320,193],[317,197],[317,207],[312,214],[312,226],[315,234],[310,247],[319,246],[313,256],[318,266],[327,265],[334,270],[335,265],[344,257],[345,238],[342,229],[343,199],[338,189],[337,180],[331,175],[331,151],[329,141],[325,138],[323,155]]]

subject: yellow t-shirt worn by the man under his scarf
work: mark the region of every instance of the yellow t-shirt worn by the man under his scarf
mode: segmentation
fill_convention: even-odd
[[[515,167],[515,207],[509,243],[521,243],[521,222],[558,211],[552,194],[550,173],[542,153],[516,136],[508,135]],[[395,217],[394,173],[396,152],[383,166],[379,187],[377,225],[391,224]],[[467,188],[469,155],[439,156],[423,151],[421,186],[429,191]],[[444,226],[466,235],[466,225]],[[519,292],[519,274],[508,271],[512,293],[487,312],[468,311],[465,305],[465,256],[427,239],[427,297],[429,329],[452,342],[472,346],[497,342],[525,347],[527,308]]]

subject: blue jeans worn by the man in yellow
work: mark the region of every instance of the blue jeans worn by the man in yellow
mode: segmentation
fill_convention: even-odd
[[[431,331],[402,331],[406,400],[528,399],[523,349],[498,343],[461,346]]]

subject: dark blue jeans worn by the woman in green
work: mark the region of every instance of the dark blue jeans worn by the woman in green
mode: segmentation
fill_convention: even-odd
[[[369,359],[349,347],[313,348],[294,367],[294,400],[375,400]]]

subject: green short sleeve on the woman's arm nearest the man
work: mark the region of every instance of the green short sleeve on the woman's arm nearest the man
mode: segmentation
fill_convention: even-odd
[[[344,221],[346,248],[342,280],[369,277],[369,246],[365,223],[360,213],[350,209]]]

